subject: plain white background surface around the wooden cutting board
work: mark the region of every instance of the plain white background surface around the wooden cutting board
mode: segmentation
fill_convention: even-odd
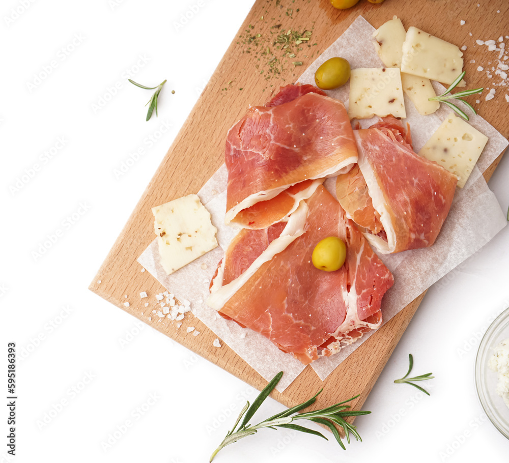
[[[197,0],[48,0],[24,11],[21,3],[0,9],[0,358],[7,360],[7,342],[18,349],[17,455],[6,455],[2,407],[0,461],[208,461],[257,392],[152,328],[139,329],[87,287],[252,1],[203,0],[178,28]],[[22,13],[7,24],[11,8]],[[51,73],[34,80],[53,60]],[[129,84],[128,71],[146,85],[167,79],[158,119],[145,122],[151,92]],[[101,97],[108,101],[94,109]],[[161,128],[149,147],[146,137]],[[59,139],[65,144],[49,159],[44,153]],[[146,154],[116,177],[138,147]],[[508,173],[506,156],[490,182],[504,210]],[[480,335],[509,305],[508,250],[506,227],[430,289],[365,402],[373,413],[356,420],[362,443],[343,451],[265,429],[215,461],[506,460],[509,443],[479,406],[473,366]],[[430,397],[393,384],[409,353],[413,373],[436,376],[425,385]],[[281,409],[268,399],[259,416]]]

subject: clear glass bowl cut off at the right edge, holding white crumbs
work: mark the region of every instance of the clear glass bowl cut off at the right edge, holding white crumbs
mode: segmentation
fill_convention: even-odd
[[[475,387],[477,396],[493,425],[509,439],[509,408],[497,394],[497,373],[489,366],[493,349],[509,338],[509,308],[505,309],[486,331],[475,358]]]

